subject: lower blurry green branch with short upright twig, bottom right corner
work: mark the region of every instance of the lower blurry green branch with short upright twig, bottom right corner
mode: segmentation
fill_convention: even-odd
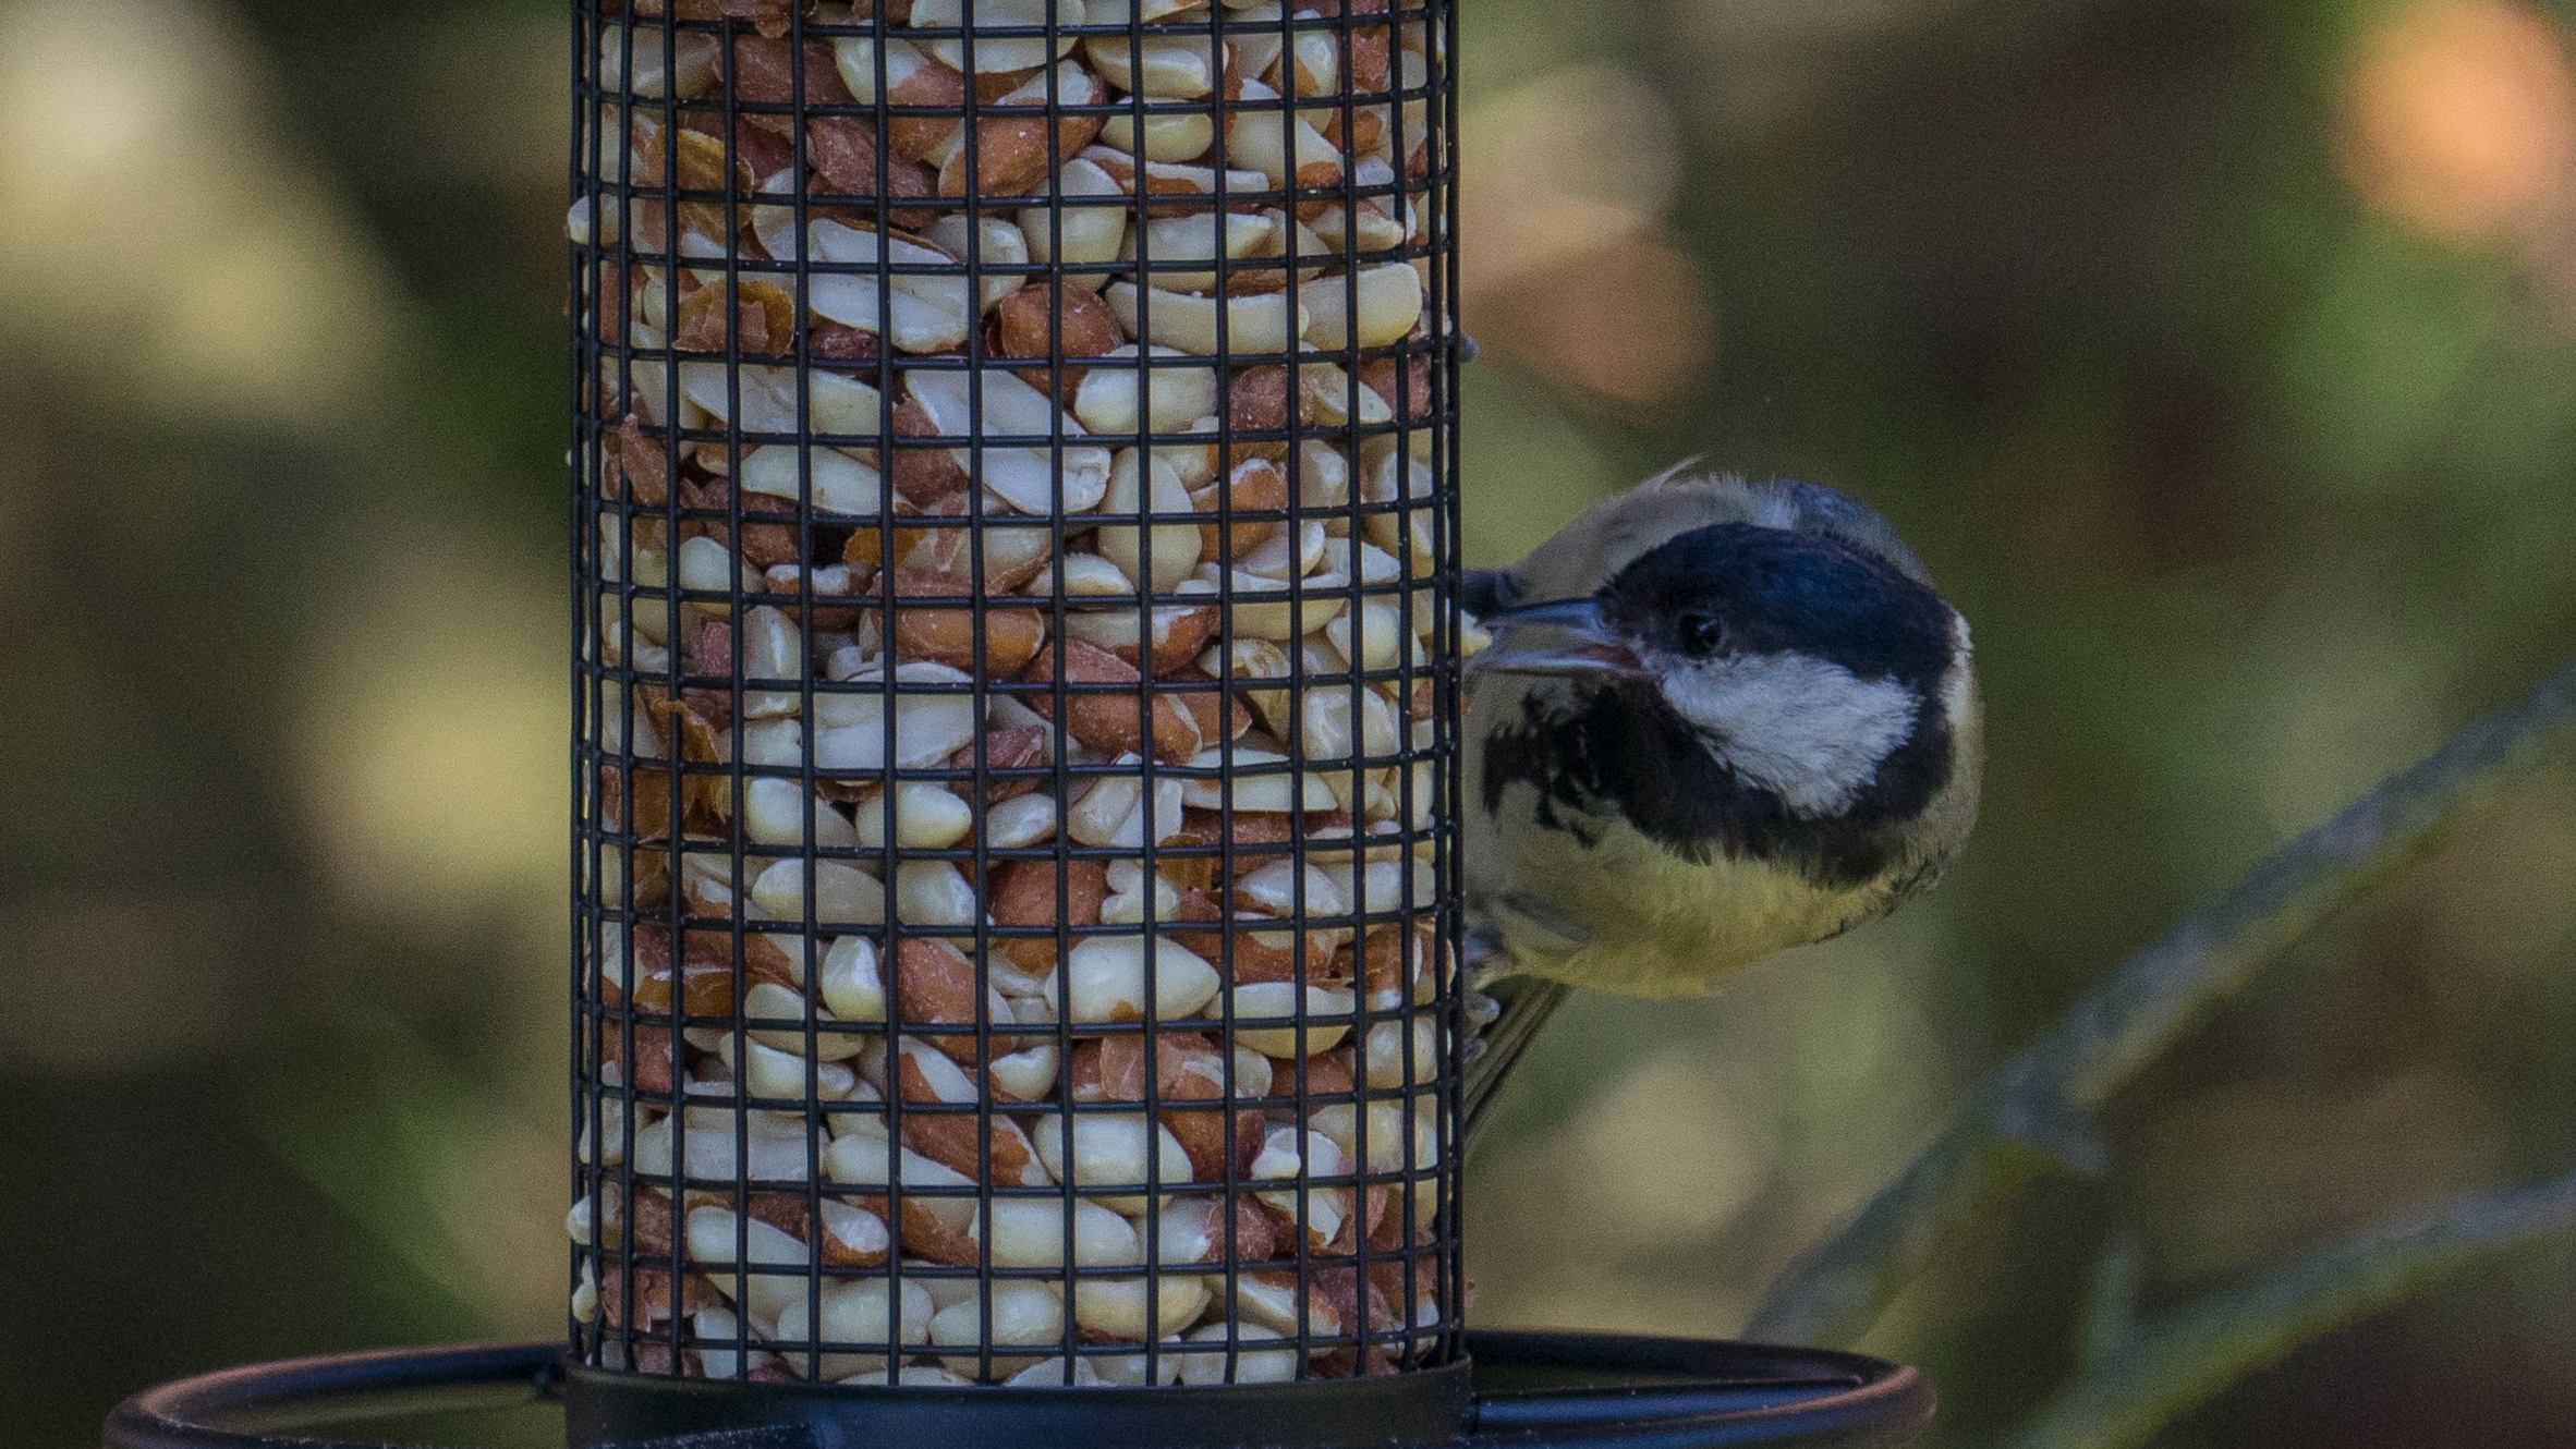
[[[2012,1439],[2012,1449],[2130,1449],[2290,1349],[2385,1307],[2432,1279],[2576,1225],[2576,1174],[2543,1186],[2455,1199],[2434,1217],[2388,1223],[2331,1243],[2241,1292],[2213,1297],[2146,1331],[2117,1287],[2094,1305],[2084,1372]],[[2130,1259],[2133,1261],[2133,1259]]]

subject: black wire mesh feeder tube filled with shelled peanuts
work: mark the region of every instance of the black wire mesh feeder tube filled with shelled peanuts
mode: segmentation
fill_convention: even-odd
[[[577,1361],[1458,1359],[1448,21],[577,5]]]

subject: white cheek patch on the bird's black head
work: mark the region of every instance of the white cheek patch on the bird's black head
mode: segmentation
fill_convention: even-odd
[[[1736,775],[1811,818],[1850,808],[1919,710],[1896,679],[1860,679],[1806,654],[1682,667],[1664,674],[1664,700],[1713,736],[1710,749]]]

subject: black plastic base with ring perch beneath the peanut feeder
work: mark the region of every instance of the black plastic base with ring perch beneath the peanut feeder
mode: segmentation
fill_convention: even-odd
[[[1216,1444],[1453,1449],[1878,1449],[1932,1423],[1922,1372],[1829,1349],[1623,1333],[1468,1333],[1473,1364],[1208,1390],[840,1390],[580,1369],[562,1343],[379,1349],[144,1390],[106,1449],[343,1449],[335,1423],[567,1403],[572,1444],[775,1449]],[[1473,1382],[1468,1380],[1473,1369]],[[659,1418],[654,1418],[659,1416]],[[613,1431],[618,1436],[603,1436]],[[358,1449],[358,1446],[348,1446]]]

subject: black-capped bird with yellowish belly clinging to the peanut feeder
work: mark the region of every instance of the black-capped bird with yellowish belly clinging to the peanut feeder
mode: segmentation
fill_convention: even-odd
[[[1976,824],[1968,620],[1896,528],[1698,458],[1471,569],[1461,1122],[1571,986],[1705,993],[1929,888]]]

